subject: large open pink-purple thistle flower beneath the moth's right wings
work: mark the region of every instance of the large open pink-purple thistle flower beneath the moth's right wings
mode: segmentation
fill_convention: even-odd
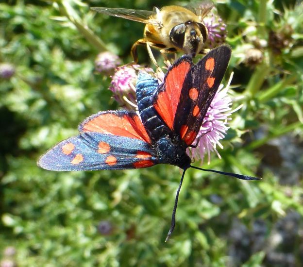
[[[228,121],[231,120],[232,99],[228,96],[227,91],[232,80],[231,75],[228,84],[225,88],[221,84],[206,115],[203,119],[202,126],[193,144],[198,142],[197,148],[187,150],[188,154],[194,159],[201,159],[203,161],[205,154],[208,156],[208,164],[210,163],[210,152],[215,151],[219,158],[221,158],[217,146],[223,149],[220,140],[224,138],[229,127]],[[201,136],[200,140],[199,137]]]

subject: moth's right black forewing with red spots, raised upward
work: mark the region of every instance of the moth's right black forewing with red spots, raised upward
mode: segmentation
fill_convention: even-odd
[[[189,146],[219,88],[231,56],[228,46],[211,50],[188,72],[173,122],[174,132]]]

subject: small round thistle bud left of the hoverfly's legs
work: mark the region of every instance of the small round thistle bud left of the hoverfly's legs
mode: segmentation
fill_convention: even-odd
[[[110,74],[119,65],[121,65],[119,57],[108,51],[98,54],[95,60],[95,69],[106,74]]]

